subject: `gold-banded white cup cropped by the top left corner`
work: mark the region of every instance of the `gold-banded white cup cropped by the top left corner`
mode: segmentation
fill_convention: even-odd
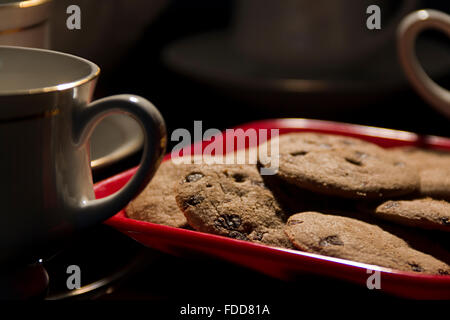
[[[47,49],[51,0],[0,1],[0,45]]]

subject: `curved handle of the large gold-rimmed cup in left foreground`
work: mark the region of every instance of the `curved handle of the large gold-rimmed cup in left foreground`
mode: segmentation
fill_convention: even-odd
[[[131,180],[116,193],[102,199],[81,201],[75,208],[78,227],[100,223],[121,209],[141,192],[153,177],[166,150],[166,127],[158,109],[148,100],[134,95],[115,95],[99,99],[73,115],[73,138],[83,146],[94,127],[106,116],[125,113],[136,119],[144,131],[144,150],[139,169]]]

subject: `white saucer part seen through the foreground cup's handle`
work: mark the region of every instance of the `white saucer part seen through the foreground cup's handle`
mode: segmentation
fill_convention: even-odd
[[[102,169],[131,156],[142,148],[144,134],[126,115],[111,115],[100,122],[91,136],[91,167]]]

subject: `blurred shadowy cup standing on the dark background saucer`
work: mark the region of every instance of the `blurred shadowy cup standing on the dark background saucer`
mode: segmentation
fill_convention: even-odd
[[[265,65],[329,70],[354,65],[394,40],[416,0],[238,0],[233,44]],[[381,29],[369,30],[367,8],[378,5]]]

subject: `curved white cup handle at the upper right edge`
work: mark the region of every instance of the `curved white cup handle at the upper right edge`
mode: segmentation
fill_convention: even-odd
[[[450,16],[428,9],[407,15],[397,30],[398,57],[406,77],[423,99],[450,117],[450,91],[440,87],[426,74],[415,53],[418,34],[428,28],[441,30],[450,37]]]

